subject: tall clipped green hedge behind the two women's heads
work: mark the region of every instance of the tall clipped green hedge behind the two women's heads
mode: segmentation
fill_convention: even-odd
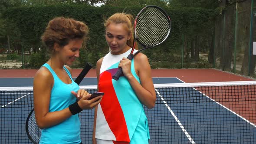
[[[25,50],[33,48],[34,52],[40,52],[39,48],[42,48],[40,36],[49,20],[54,17],[66,16],[85,22],[89,26],[90,32],[86,49],[81,51],[79,58],[82,66],[85,62],[91,62],[95,65],[97,60],[108,52],[108,46],[105,42],[105,28],[103,26],[104,18],[123,10],[126,13],[134,14],[138,13],[141,7],[92,7],[62,4],[11,8],[6,10],[3,16],[7,20],[7,25],[15,28],[10,29],[10,34],[13,34],[10,37],[19,39],[19,41],[23,42]],[[171,18],[170,36],[157,48],[144,51],[153,61],[172,60],[173,53],[181,49],[182,33],[192,37],[197,33],[209,31],[207,26],[210,24],[207,23],[216,14],[213,10],[200,8],[167,9],[166,11]],[[11,32],[12,30],[13,32]],[[34,56],[37,55],[35,54]],[[45,59],[41,60],[45,62]],[[30,64],[30,66],[32,65]],[[39,65],[33,64],[33,66]]]

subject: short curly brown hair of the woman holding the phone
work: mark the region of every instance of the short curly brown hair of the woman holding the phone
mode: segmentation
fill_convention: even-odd
[[[54,43],[66,46],[71,39],[84,39],[89,33],[88,26],[72,18],[56,17],[50,20],[45,32],[41,36],[43,44],[53,51]]]

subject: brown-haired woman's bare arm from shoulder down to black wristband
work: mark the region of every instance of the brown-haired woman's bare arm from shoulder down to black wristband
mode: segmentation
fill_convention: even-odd
[[[39,128],[48,128],[59,124],[72,115],[69,108],[65,108],[62,111],[49,112],[53,83],[53,76],[47,69],[41,68],[36,72],[33,84],[34,110]]]

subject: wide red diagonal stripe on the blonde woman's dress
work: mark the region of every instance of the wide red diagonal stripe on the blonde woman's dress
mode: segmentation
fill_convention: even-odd
[[[104,92],[100,105],[109,128],[115,135],[116,141],[130,142],[125,116],[115,94],[110,72],[102,72],[98,83],[99,92]]]

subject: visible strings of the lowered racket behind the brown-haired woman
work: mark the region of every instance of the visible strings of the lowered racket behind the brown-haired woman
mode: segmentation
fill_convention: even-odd
[[[39,142],[40,136],[41,136],[41,130],[38,128],[36,124],[36,118],[34,113],[30,115],[30,119],[28,121],[28,130],[32,139],[34,141]]]

